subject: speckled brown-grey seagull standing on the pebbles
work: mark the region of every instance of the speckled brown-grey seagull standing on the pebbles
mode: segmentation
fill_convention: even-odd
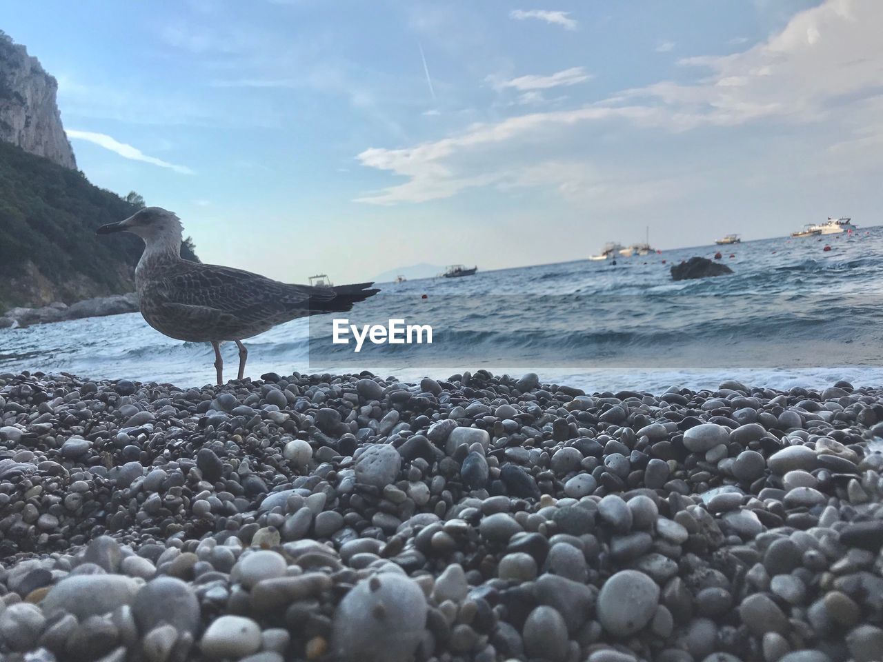
[[[250,338],[289,320],[323,312],[345,312],[380,290],[373,282],[340,287],[289,285],[232,267],[191,262],[181,257],[184,229],[177,215],[144,207],[125,221],[108,223],[97,235],[132,232],[144,240],[135,267],[141,315],[161,334],[188,342],[211,342],[218,386],[223,384],[221,342],[239,349],[239,377],[245,375]]]

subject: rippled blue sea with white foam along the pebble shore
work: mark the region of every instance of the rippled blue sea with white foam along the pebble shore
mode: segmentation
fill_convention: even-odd
[[[718,252],[715,261],[733,274],[672,279],[673,265]],[[588,392],[715,388],[724,380],[781,389],[883,385],[883,227],[615,261],[478,267],[462,278],[379,283],[381,292],[351,312],[254,336],[245,341],[246,375],[369,371],[416,381],[483,369],[537,372]],[[410,344],[366,341],[356,352],[351,332],[341,330],[389,320],[432,327],[432,342],[415,333]],[[223,356],[225,379],[235,377],[236,346],[225,343]],[[0,329],[0,372],[200,387],[214,382],[213,363],[209,344],[167,338],[139,313]]]

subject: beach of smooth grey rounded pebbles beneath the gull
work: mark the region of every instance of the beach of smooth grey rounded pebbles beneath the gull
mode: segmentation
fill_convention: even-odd
[[[883,389],[0,373],[0,658],[871,662]]]

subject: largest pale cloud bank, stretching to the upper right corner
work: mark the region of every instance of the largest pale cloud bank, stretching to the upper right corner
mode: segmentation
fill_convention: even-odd
[[[805,146],[808,141],[816,144],[833,136],[819,149],[842,143],[833,154],[856,149],[869,152],[883,138],[883,123],[872,119],[874,109],[883,105],[879,103],[883,102],[879,82],[883,41],[876,29],[881,22],[883,3],[876,0],[826,0],[795,14],[781,31],[742,52],[681,60],[680,64],[695,71],[692,82],[682,82],[684,77],[680,76],[679,81],[662,80],[624,90],[574,109],[472,124],[411,147],[366,149],[358,154],[358,162],[402,181],[366,192],[358,201],[416,203],[479,187],[524,186],[528,181],[562,193],[568,185],[576,186],[567,176],[572,165],[544,170],[544,178],[539,178],[537,163],[591,161],[600,145],[615,140],[622,144],[615,150],[617,158],[630,159],[634,169],[645,168],[637,156],[643,152],[630,149],[636,140],[643,139],[636,137],[636,129],[653,129],[653,140],[674,141],[672,154],[684,153],[683,147],[678,147],[684,141],[695,143],[695,139],[682,137],[686,132],[699,128],[730,132],[721,133],[721,139],[733,144],[738,137],[758,135],[742,128],[752,124],[782,135],[782,144]],[[584,75],[565,70],[548,77],[503,81],[502,87],[529,94],[554,87],[555,76],[562,85],[563,80]],[[538,97],[532,94],[525,99],[536,101]],[[629,181],[629,176],[622,180]],[[592,185],[598,196],[606,190],[600,184]],[[662,188],[645,190],[645,197]]]

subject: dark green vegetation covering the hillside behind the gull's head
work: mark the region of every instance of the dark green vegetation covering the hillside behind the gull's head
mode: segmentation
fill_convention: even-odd
[[[143,205],[140,196],[133,201]],[[140,239],[124,233],[102,240],[94,230],[138,208],[79,171],[0,141],[0,313],[47,303],[34,300],[36,290],[65,303],[132,291]],[[181,254],[198,260],[189,237]]]

